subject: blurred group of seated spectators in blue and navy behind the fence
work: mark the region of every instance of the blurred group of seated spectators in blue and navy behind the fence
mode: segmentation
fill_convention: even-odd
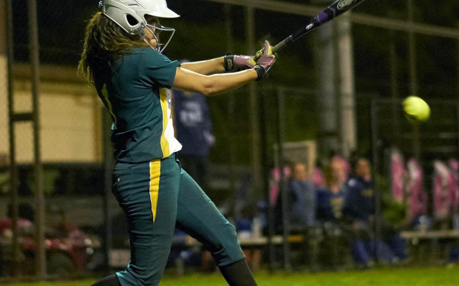
[[[280,194],[279,186],[286,196]],[[282,203],[282,198],[288,202]],[[335,156],[322,169],[314,170],[295,162],[283,169],[282,179],[274,170],[270,203],[278,232],[283,229],[279,218],[285,211],[290,233],[305,233],[307,239],[319,233],[321,244],[335,243],[338,236],[362,268],[371,267],[375,260],[394,263],[407,259],[405,243],[389,223],[379,220],[380,232],[375,233],[374,181],[366,158],[348,163]]]

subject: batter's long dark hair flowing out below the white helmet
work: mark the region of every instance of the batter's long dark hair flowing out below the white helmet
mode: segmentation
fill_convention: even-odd
[[[135,47],[148,47],[139,35],[129,35],[108,17],[98,12],[89,20],[78,73],[94,84],[94,78],[106,74],[114,60]]]

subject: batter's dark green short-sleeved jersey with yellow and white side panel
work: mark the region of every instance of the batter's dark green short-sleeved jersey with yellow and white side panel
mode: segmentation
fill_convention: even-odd
[[[113,120],[117,162],[149,162],[182,149],[174,137],[169,91],[179,66],[152,48],[135,48],[115,61],[103,79],[95,79]]]

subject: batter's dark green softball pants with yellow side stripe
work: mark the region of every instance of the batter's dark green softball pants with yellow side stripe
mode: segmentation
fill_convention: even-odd
[[[234,226],[175,154],[150,163],[118,163],[112,192],[127,217],[131,246],[131,261],[117,273],[122,286],[159,284],[176,226],[201,242],[218,266],[244,259]]]

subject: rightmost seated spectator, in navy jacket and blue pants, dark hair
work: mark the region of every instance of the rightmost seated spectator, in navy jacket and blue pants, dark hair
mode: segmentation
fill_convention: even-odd
[[[364,267],[371,265],[373,258],[393,262],[406,259],[403,240],[386,223],[381,223],[382,239],[376,238],[374,182],[371,178],[370,163],[359,158],[354,164],[354,176],[347,182],[346,215],[352,221],[353,239],[351,252],[354,261]],[[388,244],[386,244],[386,242]]]

